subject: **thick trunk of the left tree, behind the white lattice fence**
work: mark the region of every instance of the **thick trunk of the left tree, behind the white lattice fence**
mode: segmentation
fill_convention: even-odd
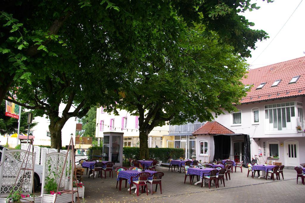
[[[58,149],[59,151],[62,148],[61,130],[63,129],[65,122],[60,122],[60,118],[57,118],[57,121],[54,120],[55,119],[52,119],[52,117],[50,117],[49,130],[51,134],[51,147]]]

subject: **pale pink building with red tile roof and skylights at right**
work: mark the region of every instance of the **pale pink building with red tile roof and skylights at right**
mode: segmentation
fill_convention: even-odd
[[[305,57],[249,70],[242,83],[247,96],[236,105],[237,111],[224,111],[193,133],[197,159],[210,156],[212,160],[216,146],[213,137],[232,133],[249,135],[251,158],[260,163],[280,162],[291,167],[305,163]],[[228,157],[242,161],[244,139],[230,136],[228,142]],[[203,153],[199,152],[201,147]]]

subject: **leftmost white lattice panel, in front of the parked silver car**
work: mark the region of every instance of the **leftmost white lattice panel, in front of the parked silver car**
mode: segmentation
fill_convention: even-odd
[[[33,161],[35,154],[26,150],[2,151],[2,164],[0,166],[0,194],[9,194],[11,191],[32,191]],[[16,187],[13,187],[16,182]]]

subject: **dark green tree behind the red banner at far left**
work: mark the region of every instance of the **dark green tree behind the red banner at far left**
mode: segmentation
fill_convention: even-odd
[[[24,108],[21,109],[21,118],[20,118],[20,133],[27,134],[28,124],[27,124],[27,115],[28,111],[24,111]],[[33,120],[34,120],[33,116]],[[33,128],[37,123],[33,122],[30,124],[30,128]],[[5,100],[2,101],[0,105],[0,134],[1,135],[11,135],[17,133],[18,131],[18,119],[5,116]]]

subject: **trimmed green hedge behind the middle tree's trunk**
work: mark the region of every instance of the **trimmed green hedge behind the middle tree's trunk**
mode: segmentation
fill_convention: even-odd
[[[181,148],[149,148],[149,158],[158,161],[167,162],[169,158],[177,159],[184,157],[184,149]],[[140,159],[140,148],[123,147],[123,161],[129,162],[129,159]]]

